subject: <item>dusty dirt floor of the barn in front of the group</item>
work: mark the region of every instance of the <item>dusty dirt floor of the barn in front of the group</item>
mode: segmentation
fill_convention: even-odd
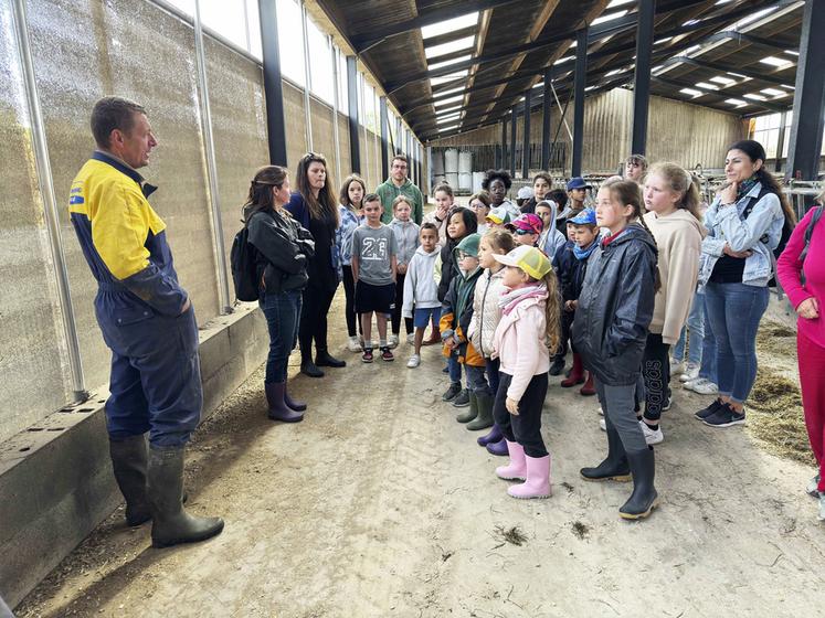
[[[795,387],[789,333],[765,332],[762,382]],[[708,398],[675,385],[656,448],[662,507],[626,523],[630,484],[579,476],[605,449],[594,398],[552,381],[553,497],[517,501],[493,472],[501,459],[441,402],[437,350],[416,370],[405,343],[394,363],[364,365],[343,340],[336,330],[332,349],[349,366],[293,382],[304,423],[266,419],[258,371],[198,431],[189,509],[221,514],[223,534],[152,550],[149,526],[127,529],[118,510],[19,616],[780,617],[825,603],[797,407],[712,429],[692,417]]]

